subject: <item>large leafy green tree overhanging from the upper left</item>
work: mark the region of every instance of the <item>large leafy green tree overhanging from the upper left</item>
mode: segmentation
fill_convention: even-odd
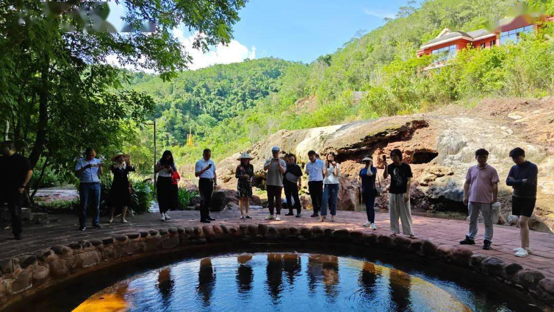
[[[197,30],[193,46],[228,43],[243,0],[121,1],[129,33],[109,32],[109,8],[93,1],[11,1],[0,6],[0,123],[32,167],[70,168],[85,146],[107,156],[153,110],[150,96],[122,88],[128,79],[106,65],[156,70],[162,80],[187,68],[189,54],[171,30]],[[88,10],[85,10],[88,9]],[[85,12],[85,13],[83,13]],[[144,24],[155,32],[143,34]]]

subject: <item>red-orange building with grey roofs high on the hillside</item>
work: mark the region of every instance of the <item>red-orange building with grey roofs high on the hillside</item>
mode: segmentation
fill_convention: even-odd
[[[554,21],[554,16],[520,15],[515,18],[501,19],[492,31],[481,28],[471,32],[455,32],[449,28],[432,40],[424,43],[417,51],[417,56],[437,54],[430,68],[444,66],[446,61],[455,57],[456,52],[466,47],[490,48],[493,45],[517,43],[521,34],[533,32],[537,28],[537,21]]]

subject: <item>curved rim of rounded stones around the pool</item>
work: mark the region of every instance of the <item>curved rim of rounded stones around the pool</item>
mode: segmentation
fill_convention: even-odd
[[[520,264],[497,257],[473,253],[452,245],[437,245],[428,239],[331,229],[320,226],[195,226],[131,232],[114,237],[90,239],[68,245],[54,245],[35,255],[24,255],[0,262],[0,310],[38,291],[67,282],[79,275],[104,269],[149,255],[186,250],[192,246],[232,242],[333,242],[370,245],[398,253],[455,265],[484,273],[496,282],[530,295],[545,311],[554,311],[554,277],[541,270],[524,269]]]

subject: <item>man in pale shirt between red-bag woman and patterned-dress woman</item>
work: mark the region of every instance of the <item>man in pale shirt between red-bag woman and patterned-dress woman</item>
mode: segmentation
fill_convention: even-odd
[[[194,176],[199,178],[200,222],[210,223],[215,220],[209,216],[209,204],[212,200],[213,189],[217,186],[216,164],[210,159],[212,157],[210,149],[204,149],[202,156],[202,159],[196,162]]]

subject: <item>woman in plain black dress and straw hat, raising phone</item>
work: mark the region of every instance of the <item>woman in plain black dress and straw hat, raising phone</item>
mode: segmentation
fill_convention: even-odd
[[[114,181],[111,183],[109,204],[111,206],[111,214],[108,222],[114,221],[114,212],[116,208],[121,208],[121,223],[127,223],[125,215],[127,207],[131,204],[132,188],[129,183],[129,172],[135,171],[131,165],[130,156],[121,152],[111,157],[114,162],[110,166],[110,171],[114,174]]]

